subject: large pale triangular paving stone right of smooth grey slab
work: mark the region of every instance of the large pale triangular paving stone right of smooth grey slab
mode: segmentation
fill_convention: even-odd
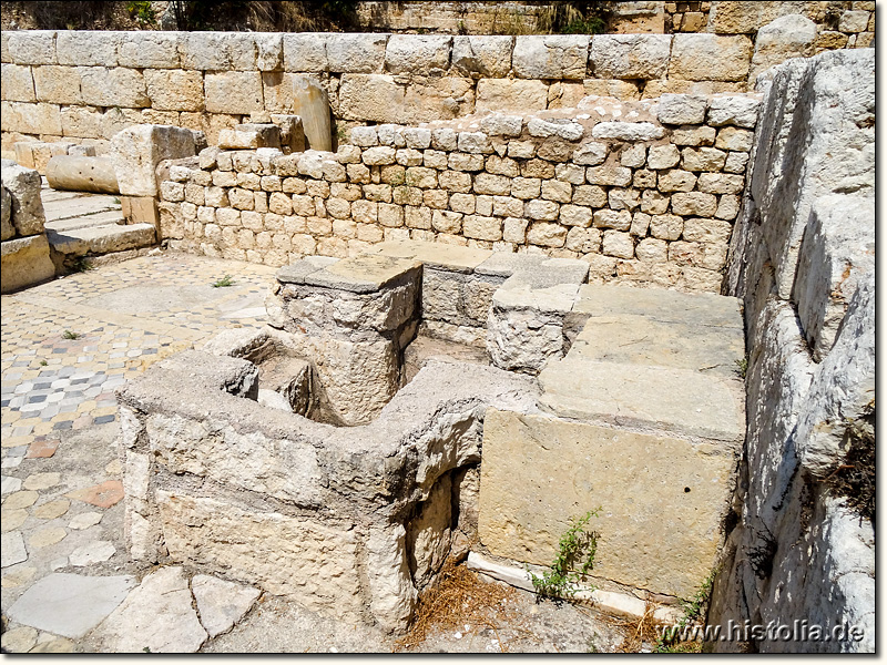
[[[93,636],[114,653],[193,653],[207,640],[179,566],[146,575]]]

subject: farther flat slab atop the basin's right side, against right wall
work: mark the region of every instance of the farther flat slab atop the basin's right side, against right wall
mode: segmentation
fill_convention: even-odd
[[[595,316],[588,319],[567,357],[674,367],[737,379],[736,361],[745,357],[745,338],[742,328],[635,315]]]

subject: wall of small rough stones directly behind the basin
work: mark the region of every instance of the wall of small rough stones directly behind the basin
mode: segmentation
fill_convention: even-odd
[[[223,151],[161,175],[161,236],[285,265],[419,239],[582,258],[592,282],[716,291],[754,95],[663,95],[465,123],[355,127],[336,153]]]

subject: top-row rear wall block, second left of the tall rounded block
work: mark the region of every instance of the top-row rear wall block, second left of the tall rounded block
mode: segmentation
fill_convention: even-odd
[[[598,79],[662,79],[671,45],[670,34],[595,34],[590,69]]]

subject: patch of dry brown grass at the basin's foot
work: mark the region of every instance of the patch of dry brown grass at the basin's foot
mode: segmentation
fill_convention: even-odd
[[[508,646],[500,638],[499,631],[504,625],[510,630],[516,626],[516,617],[506,607],[514,596],[513,589],[486,582],[468,566],[449,559],[437,584],[419,598],[415,622],[409,633],[396,642],[395,651],[415,648],[435,631],[461,628],[468,623],[490,628],[496,633],[501,651],[507,652]]]

